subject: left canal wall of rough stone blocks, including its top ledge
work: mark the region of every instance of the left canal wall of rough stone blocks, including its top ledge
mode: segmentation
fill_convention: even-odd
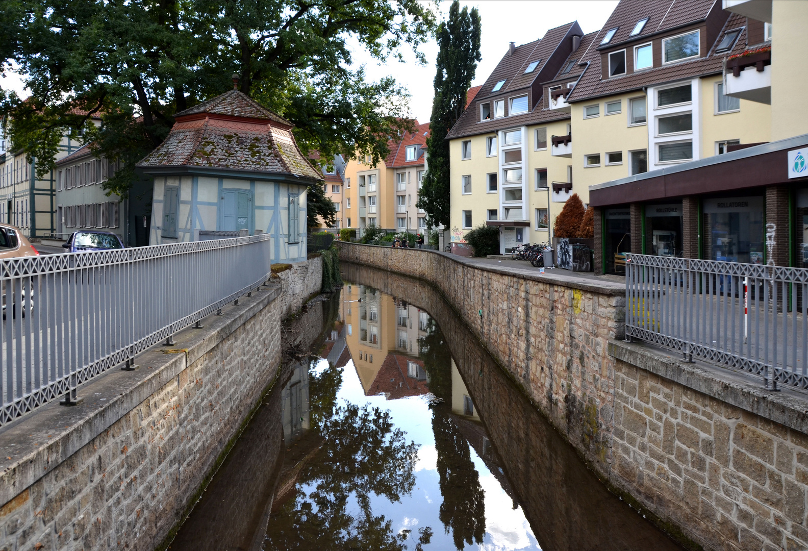
[[[284,312],[320,288],[319,266],[290,272],[138,356],[136,371],[80,387],[82,405],[51,403],[3,427],[0,549],[166,541],[275,380]]]

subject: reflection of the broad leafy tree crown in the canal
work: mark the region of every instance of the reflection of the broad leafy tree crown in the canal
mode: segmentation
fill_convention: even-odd
[[[395,534],[392,520],[374,515],[370,494],[400,501],[415,486],[418,446],[406,443],[388,411],[368,406],[335,406],[342,369],[333,364],[309,372],[313,431],[322,448],[301,467],[297,490],[269,523],[266,549],[415,549],[429,543],[431,529]],[[301,487],[314,488],[309,494]],[[349,508],[356,507],[356,514]]]

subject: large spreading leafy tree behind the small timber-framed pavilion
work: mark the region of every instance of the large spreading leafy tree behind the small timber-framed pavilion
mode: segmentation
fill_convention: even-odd
[[[53,168],[65,128],[87,127],[95,154],[123,170],[105,184],[125,194],[135,164],[159,145],[174,115],[240,89],[292,121],[304,154],[388,154],[387,137],[406,127],[406,90],[393,78],[368,82],[351,65],[349,42],[378,60],[417,48],[434,15],[417,0],[7,0],[0,52],[14,61],[32,97],[2,94],[8,134]],[[423,55],[416,55],[423,61]],[[314,194],[313,194],[314,196]],[[313,200],[317,200],[314,196]],[[326,212],[327,214],[327,212]]]

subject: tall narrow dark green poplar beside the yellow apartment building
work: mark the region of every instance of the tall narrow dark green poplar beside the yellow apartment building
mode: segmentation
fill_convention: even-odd
[[[429,170],[423,176],[418,208],[427,212],[427,225],[448,226],[449,144],[446,135],[465,110],[480,57],[480,15],[477,8],[460,9],[454,0],[448,20],[436,32],[440,51],[436,61],[435,97],[432,99],[430,136],[427,138]]]

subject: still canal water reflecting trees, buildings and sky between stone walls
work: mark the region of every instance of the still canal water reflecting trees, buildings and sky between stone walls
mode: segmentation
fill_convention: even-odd
[[[680,549],[422,282],[343,266],[169,549]]]

